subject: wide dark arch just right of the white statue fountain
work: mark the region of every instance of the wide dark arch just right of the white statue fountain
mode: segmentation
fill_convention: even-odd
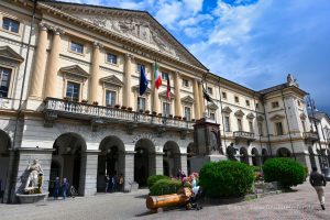
[[[86,184],[86,157],[84,155],[87,150],[85,139],[74,132],[62,133],[54,141],[53,148],[55,151],[52,154],[52,162],[57,162],[61,167],[59,179],[67,178],[69,185],[84,196]],[[58,166],[53,166],[53,169],[51,167],[51,173],[56,173],[57,168]],[[50,191],[53,190],[51,187],[54,186],[52,183],[55,180],[52,178],[50,178]]]

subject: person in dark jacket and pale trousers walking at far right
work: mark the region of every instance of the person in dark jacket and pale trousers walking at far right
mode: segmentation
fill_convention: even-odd
[[[321,208],[326,210],[324,207],[324,186],[327,185],[327,180],[324,176],[318,173],[317,167],[312,167],[312,172],[309,175],[309,183],[315,188],[318,194],[319,201],[321,204]]]

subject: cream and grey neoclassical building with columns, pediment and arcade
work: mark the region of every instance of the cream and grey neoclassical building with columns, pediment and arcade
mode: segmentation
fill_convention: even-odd
[[[105,191],[107,174],[122,174],[129,191],[153,174],[189,173],[194,124],[205,117],[220,124],[230,160],[260,165],[292,156],[319,166],[328,139],[317,145],[307,92],[293,76],[261,91],[221,78],[144,11],[42,0],[33,8],[0,2],[3,202],[15,201],[34,158],[44,190],[66,177],[81,196]],[[142,96],[141,66],[148,80]]]

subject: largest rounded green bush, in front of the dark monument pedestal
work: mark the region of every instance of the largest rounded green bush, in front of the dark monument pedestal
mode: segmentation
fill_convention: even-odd
[[[206,164],[199,175],[200,186],[213,198],[242,197],[251,190],[254,180],[252,167],[233,161]]]

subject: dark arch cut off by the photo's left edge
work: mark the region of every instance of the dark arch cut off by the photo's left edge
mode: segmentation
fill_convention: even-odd
[[[1,195],[1,200],[3,198],[4,190],[7,188],[7,174],[9,169],[9,148],[11,147],[11,139],[9,134],[0,130],[0,195]]]

